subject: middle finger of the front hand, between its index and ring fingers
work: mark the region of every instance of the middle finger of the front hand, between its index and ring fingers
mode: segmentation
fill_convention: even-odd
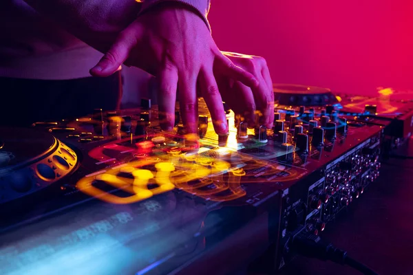
[[[178,75],[180,113],[187,133],[198,133],[198,100],[195,77]]]

